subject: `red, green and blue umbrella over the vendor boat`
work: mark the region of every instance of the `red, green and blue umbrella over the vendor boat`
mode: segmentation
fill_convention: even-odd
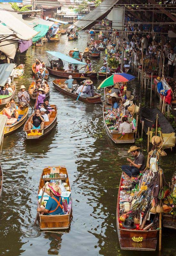
[[[134,78],[136,78],[135,76],[126,74],[126,73],[118,73],[118,74],[113,74],[112,76],[107,77],[98,87],[98,89],[100,88],[104,88],[107,86],[111,86],[113,84],[116,83],[122,83],[122,82],[129,82],[131,80],[133,80]]]

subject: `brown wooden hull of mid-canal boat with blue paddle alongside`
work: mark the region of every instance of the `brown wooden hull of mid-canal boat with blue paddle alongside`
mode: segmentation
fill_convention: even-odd
[[[70,96],[73,99],[77,99],[78,95],[74,94],[72,92],[68,92],[65,90],[64,88],[64,83],[65,79],[55,79],[52,81],[54,87],[61,93]],[[88,103],[101,103],[101,95],[98,93],[95,93],[95,96],[93,97],[89,97],[89,98],[85,98],[80,96],[79,100],[84,101],[84,102],[88,102]]]

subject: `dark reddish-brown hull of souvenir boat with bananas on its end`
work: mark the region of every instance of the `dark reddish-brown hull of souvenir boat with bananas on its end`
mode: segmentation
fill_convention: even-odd
[[[123,173],[122,173],[123,174]],[[120,187],[122,184],[122,176],[118,190],[117,207],[116,207],[116,225],[117,233],[122,250],[142,250],[142,251],[156,251],[157,236],[159,229],[156,230],[136,230],[123,228],[119,223],[119,197]],[[140,243],[133,242],[132,237],[142,236],[143,240]],[[140,244],[140,246],[139,246]]]

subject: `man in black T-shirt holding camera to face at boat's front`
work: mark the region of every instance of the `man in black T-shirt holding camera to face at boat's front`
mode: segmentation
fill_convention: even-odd
[[[44,129],[44,118],[41,116],[40,109],[36,109],[35,113],[32,113],[28,122],[28,130],[34,129]]]

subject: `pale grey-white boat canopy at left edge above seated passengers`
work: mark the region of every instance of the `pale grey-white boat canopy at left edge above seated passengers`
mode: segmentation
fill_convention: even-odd
[[[0,65],[0,86],[4,86],[15,67],[16,64],[14,63],[5,63]]]

